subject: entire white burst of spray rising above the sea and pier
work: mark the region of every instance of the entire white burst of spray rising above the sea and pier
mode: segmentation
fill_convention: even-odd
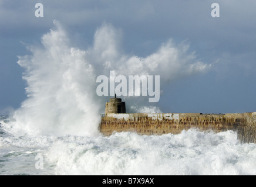
[[[58,21],[42,37],[42,47],[28,47],[30,56],[19,57],[25,69],[26,99],[15,111],[14,131],[28,134],[99,134],[100,112],[106,98],[96,95],[96,77],[109,75],[160,75],[160,89],[178,77],[201,73],[211,65],[188,54],[189,46],[172,40],[147,57],[120,51],[120,32],[103,24],[87,50],[70,47],[68,34]],[[124,96],[130,112],[161,112],[146,97]],[[136,103],[136,104],[134,104]]]

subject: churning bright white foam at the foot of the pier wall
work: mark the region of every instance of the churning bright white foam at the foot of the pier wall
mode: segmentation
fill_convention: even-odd
[[[77,143],[59,140],[46,157],[60,175],[254,175],[256,146],[240,144],[236,136],[233,131],[123,132]]]

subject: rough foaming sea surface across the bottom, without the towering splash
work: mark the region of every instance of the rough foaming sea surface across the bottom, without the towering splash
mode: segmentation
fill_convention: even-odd
[[[18,136],[12,120],[0,117],[0,175],[256,174],[256,144],[235,131]]]

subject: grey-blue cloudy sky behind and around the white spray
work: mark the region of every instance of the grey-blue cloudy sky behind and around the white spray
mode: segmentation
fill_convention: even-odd
[[[200,77],[203,79],[200,79],[202,87],[206,90],[213,89],[211,92],[203,91],[202,99],[205,99],[209,105],[217,106],[216,102],[213,102],[214,99],[206,99],[208,98],[206,95],[209,94],[214,98],[217,90],[223,90],[222,82],[231,85],[233,79],[239,79],[244,82],[244,85],[250,87],[250,92],[239,89],[235,92],[243,93],[247,99],[237,101],[236,93],[224,89],[223,95],[228,95],[230,99],[221,100],[218,103],[218,108],[223,108],[224,112],[234,112],[235,109],[231,103],[238,102],[238,110],[240,106],[242,108],[240,112],[256,110],[254,103],[250,102],[252,93],[255,93],[256,90],[251,81],[256,78],[254,75],[256,58],[256,12],[254,8],[256,2],[252,0],[214,2],[220,5],[220,18],[211,17],[213,1],[210,0],[45,0],[42,1],[44,17],[36,18],[34,1],[2,0],[0,1],[0,50],[5,51],[5,53],[1,53],[0,56],[2,74],[0,84],[6,89],[3,91],[4,95],[1,95],[0,107],[5,108],[7,106],[6,101],[9,101],[9,106],[16,107],[17,102],[23,98],[20,96],[24,94],[21,88],[18,88],[14,93],[7,86],[21,82],[21,78],[17,78],[18,76],[12,78],[13,74],[19,75],[22,71],[16,64],[16,56],[26,54],[25,47],[21,45],[20,41],[39,43],[40,37],[48,32],[53,26],[53,19],[56,19],[68,30],[73,44],[81,49],[92,46],[95,31],[102,26],[102,23],[110,23],[120,30],[120,48],[131,56],[147,57],[170,39],[176,44],[186,40],[190,43],[188,53],[196,51],[197,59],[208,64],[214,64],[218,61],[205,77]],[[7,75],[6,72],[8,72]],[[193,80],[198,81],[196,77]],[[211,82],[210,89],[207,86],[211,80],[214,82]],[[183,83],[187,86],[184,91],[192,90],[191,94],[197,94],[198,91],[193,89],[192,83]],[[237,86],[239,87],[240,84]],[[171,85],[166,88],[166,92],[170,92],[169,96],[164,95],[162,97],[166,101],[174,99],[174,97],[179,98],[175,88]],[[6,95],[11,95],[11,98]],[[238,95],[240,94],[238,93]],[[194,98],[194,101],[191,101],[191,110],[200,108],[198,105],[196,106],[198,100],[199,98]],[[180,110],[186,110],[186,102],[181,102],[181,104],[174,102],[169,107],[166,106],[166,110],[177,109],[181,106],[184,107],[181,107]],[[209,108],[214,108],[214,106],[202,106],[200,109],[203,110],[201,112],[211,112]]]

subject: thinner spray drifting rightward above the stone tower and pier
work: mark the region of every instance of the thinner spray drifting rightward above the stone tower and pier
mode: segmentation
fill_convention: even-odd
[[[197,60],[195,52],[188,52],[190,46],[185,41],[176,46],[170,39],[147,57],[122,54],[120,35],[119,30],[106,23],[97,29],[93,47],[88,53],[97,67],[104,67],[99,68],[98,74],[109,75],[109,71],[114,70],[116,76],[160,75],[160,93],[163,93],[163,88],[170,81],[201,74],[211,68],[211,64]],[[141,92],[140,88],[140,96],[123,96],[124,101],[127,101],[126,106],[130,105],[127,112],[161,112]]]

